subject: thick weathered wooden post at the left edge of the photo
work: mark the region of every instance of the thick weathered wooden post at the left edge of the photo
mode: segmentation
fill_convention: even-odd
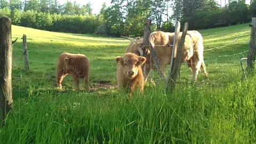
[[[11,19],[0,18],[0,123],[12,109],[12,30]]]

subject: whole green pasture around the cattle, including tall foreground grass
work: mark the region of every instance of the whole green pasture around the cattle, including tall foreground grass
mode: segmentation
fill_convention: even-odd
[[[127,100],[116,90],[115,58],[123,38],[52,33],[12,26],[14,108],[0,130],[1,143],[256,143],[255,80],[244,81],[239,59],[247,56],[250,28],[201,30],[209,79],[193,86],[184,64],[173,94],[153,71],[143,94]],[[27,35],[30,70],[24,69]],[[63,51],[83,53],[91,63],[91,92],[55,83]],[[239,54],[237,54],[239,53]],[[81,83],[81,87],[84,86]],[[83,88],[83,87],[82,87]]]

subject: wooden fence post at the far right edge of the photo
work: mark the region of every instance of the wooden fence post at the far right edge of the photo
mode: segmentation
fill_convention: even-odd
[[[255,49],[256,49],[256,18],[252,18],[252,23],[249,25],[251,29],[251,38],[249,44],[249,51],[247,55],[247,67],[246,70],[248,73],[251,73],[253,70],[253,62],[255,60]]]

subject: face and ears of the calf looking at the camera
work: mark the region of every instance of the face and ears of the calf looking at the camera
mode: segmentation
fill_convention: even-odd
[[[116,58],[118,65],[123,67],[123,74],[129,79],[137,76],[139,68],[145,63],[145,61],[145,57],[138,56],[134,53],[126,53],[124,57]]]

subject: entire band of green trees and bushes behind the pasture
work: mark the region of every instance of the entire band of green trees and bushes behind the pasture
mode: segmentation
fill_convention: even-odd
[[[174,31],[175,20],[189,22],[189,29],[206,29],[249,22],[256,17],[256,0],[249,5],[245,0],[227,2],[221,7],[215,0],[112,0],[109,7],[103,3],[96,15],[90,3],[0,0],[0,17],[10,17],[13,25],[36,29],[115,36],[142,35],[149,18],[153,20],[153,31]]]

